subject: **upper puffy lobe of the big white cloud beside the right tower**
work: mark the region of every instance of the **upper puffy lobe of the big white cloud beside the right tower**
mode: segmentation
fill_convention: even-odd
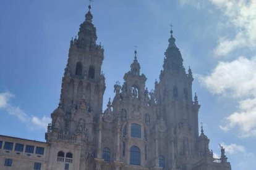
[[[256,97],[256,57],[249,60],[239,57],[232,62],[219,62],[208,76],[199,78],[200,83],[213,94],[233,98]]]

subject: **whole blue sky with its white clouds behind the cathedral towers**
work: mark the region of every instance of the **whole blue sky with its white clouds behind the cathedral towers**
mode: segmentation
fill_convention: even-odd
[[[87,6],[83,0],[0,1],[0,134],[44,140],[58,106],[70,39]],[[105,105],[129,70],[135,45],[153,89],[172,23],[184,67],[192,68],[210,148],[218,156],[218,144],[224,145],[233,169],[254,169],[255,9],[254,0],[93,2],[93,23],[105,48]]]

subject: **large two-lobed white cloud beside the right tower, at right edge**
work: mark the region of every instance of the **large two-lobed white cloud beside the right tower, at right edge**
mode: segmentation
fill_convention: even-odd
[[[237,111],[225,118],[223,131],[235,127],[239,136],[256,136],[256,57],[239,57],[232,62],[219,62],[208,76],[201,76],[200,83],[213,94],[240,100]]]

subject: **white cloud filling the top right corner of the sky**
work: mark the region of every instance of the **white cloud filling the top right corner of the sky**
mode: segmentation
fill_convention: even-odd
[[[235,30],[234,38],[222,36],[215,48],[217,56],[227,55],[241,47],[256,47],[256,1],[255,0],[210,0],[224,17],[224,22],[229,23]],[[234,31],[233,30],[233,31]]]

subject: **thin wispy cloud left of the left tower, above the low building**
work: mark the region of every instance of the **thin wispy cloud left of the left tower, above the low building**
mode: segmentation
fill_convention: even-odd
[[[9,115],[15,116],[20,121],[31,122],[36,125],[36,127],[45,129],[47,124],[51,122],[51,118],[43,116],[43,118],[38,118],[36,116],[29,116],[25,111],[19,107],[15,107],[9,103],[11,98],[15,97],[11,92],[2,92],[0,93],[0,109],[5,110]]]

